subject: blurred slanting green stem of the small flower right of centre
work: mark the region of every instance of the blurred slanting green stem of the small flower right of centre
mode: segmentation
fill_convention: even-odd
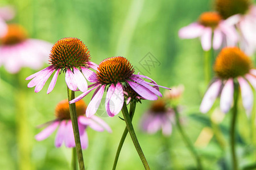
[[[180,134],[184,140],[184,142],[186,143],[186,145],[188,146],[189,148],[189,151],[191,151],[191,154],[193,155],[193,157],[195,158],[196,160],[196,163],[197,163],[197,169],[200,170],[200,169],[203,169],[202,165],[201,165],[201,159],[199,157],[199,155],[197,154],[196,150],[195,150],[195,147],[193,146],[192,142],[189,140],[188,136],[185,134],[182,126],[180,125],[180,118],[179,118],[179,112],[177,111],[177,108],[174,108],[174,111],[175,111],[175,119],[176,119],[176,125],[177,125],[177,128],[179,129],[180,131]]]

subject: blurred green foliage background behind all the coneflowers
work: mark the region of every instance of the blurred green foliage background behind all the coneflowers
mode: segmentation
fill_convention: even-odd
[[[93,62],[123,56],[135,66],[136,72],[150,76],[162,86],[184,84],[181,101],[183,126],[193,143],[203,128],[212,128],[209,116],[199,113],[201,97],[206,90],[204,54],[198,39],[180,40],[177,32],[195,22],[201,12],[212,10],[212,4],[212,1],[206,0],[2,0],[0,3],[1,6],[15,7],[16,17],[11,22],[23,25],[32,38],[54,43],[63,37],[77,37],[88,46]],[[148,52],[160,62],[151,70],[140,64]],[[47,63],[45,66],[48,66]],[[53,120],[56,104],[67,98],[64,75],[59,76],[54,90],[47,95],[49,80],[38,94],[34,88],[26,87],[28,81],[24,79],[37,70],[26,68],[16,75],[7,73],[3,67],[0,71],[1,169],[71,169],[71,149],[54,146],[56,132],[44,141],[34,139],[35,134],[42,130],[36,129],[36,126]],[[20,82],[18,86],[17,82]],[[162,89],[160,91],[163,92]],[[79,94],[81,92],[76,92],[76,95]],[[91,96],[84,98],[87,104]],[[163,138],[160,132],[148,135],[139,129],[140,118],[150,103],[143,101],[137,105],[133,124],[151,169],[196,169],[195,160],[175,125],[168,138]],[[84,160],[89,170],[112,169],[115,151],[125,128],[118,116],[103,118],[113,133],[88,129],[89,147],[84,150]],[[20,120],[24,123],[20,124]],[[229,120],[227,114],[219,127],[225,142],[228,142]],[[241,165],[253,163],[256,160],[254,120],[247,119],[242,110],[238,123],[238,131],[242,132],[238,135],[238,158]],[[24,135],[20,137],[18,131]],[[22,148],[24,155],[30,154],[30,158],[18,155],[18,147]],[[205,169],[229,169],[229,147],[221,148],[216,137],[206,146],[197,147],[197,150]],[[23,167],[20,158],[25,161]],[[143,169],[129,136],[117,169]]]

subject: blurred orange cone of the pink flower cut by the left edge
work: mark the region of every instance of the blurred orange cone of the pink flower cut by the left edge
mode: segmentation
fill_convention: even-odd
[[[7,33],[2,37],[1,42],[4,45],[18,44],[27,39],[26,30],[18,24],[9,24]]]

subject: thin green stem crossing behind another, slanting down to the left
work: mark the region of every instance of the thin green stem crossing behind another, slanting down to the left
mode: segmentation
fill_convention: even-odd
[[[135,108],[136,108],[136,102],[131,103],[130,104],[130,111],[129,111],[131,121],[133,120]],[[117,148],[117,153],[115,154],[115,160],[114,160],[114,164],[113,164],[113,168],[112,168],[113,170],[115,170],[115,168],[117,168],[118,158],[119,158],[120,152],[122,150],[123,143],[125,142],[125,138],[127,136],[127,133],[128,133],[128,129],[127,129],[127,127],[125,127],[125,130],[123,131],[123,135],[120,139],[120,142],[119,142],[119,145],[118,145],[118,148]]]

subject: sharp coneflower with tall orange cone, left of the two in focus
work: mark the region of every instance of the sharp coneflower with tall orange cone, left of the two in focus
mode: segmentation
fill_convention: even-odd
[[[26,78],[26,80],[32,79],[27,87],[35,86],[35,92],[39,92],[53,71],[56,71],[47,90],[49,94],[56,84],[57,76],[62,71],[65,73],[65,81],[70,90],[76,91],[79,88],[80,91],[85,92],[88,89],[86,79],[91,81],[95,74],[89,68],[96,70],[98,67],[96,63],[90,61],[87,46],[81,40],[72,37],[61,39],[52,46],[49,62],[51,66]]]

